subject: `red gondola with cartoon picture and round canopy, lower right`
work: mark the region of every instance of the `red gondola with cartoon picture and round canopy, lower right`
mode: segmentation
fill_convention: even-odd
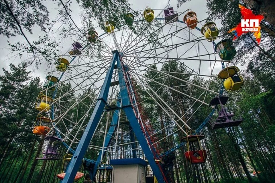
[[[191,164],[205,163],[207,154],[206,150],[202,148],[201,140],[204,139],[203,135],[188,135],[182,138],[186,143],[187,151],[185,151],[185,158]]]

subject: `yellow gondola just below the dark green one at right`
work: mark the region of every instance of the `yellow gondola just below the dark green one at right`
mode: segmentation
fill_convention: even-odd
[[[243,78],[237,74],[239,68],[236,66],[230,66],[221,70],[218,74],[220,79],[225,79],[223,86],[227,91],[239,90],[243,85]]]

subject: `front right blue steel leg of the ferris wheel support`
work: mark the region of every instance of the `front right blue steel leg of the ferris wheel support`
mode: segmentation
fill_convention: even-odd
[[[118,56],[118,55],[117,55]],[[135,114],[133,112],[133,108],[130,103],[129,95],[127,92],[127,86],[125,84],[125,79],[123,77],[123,70],[121,68],[121,62],[119,56],[117,57],[117,68],[118,68],[118,76],[119,76],[119,87],[120,87],[120,94],[121,94],[121,100],[122,100],[122,107],[125,111],[125,114],[129,120],[129,123],[131,127],[133,128],[133,131],[135,133],[135,136],[137,140],[140,143],[140,146],[142,147],[144,154],[154,172],[154,175],[156,176],[158,183],[164,183],[164,179],[162,177],[162,173],[160,172],[160,169],[158,165],[155,162],[154,156],[150,150],[150,147],[148,146],[148,143],[146,141],[146,138],[144,134],[142,133],[141,127],[137,121],[137,118],[135,117]]]

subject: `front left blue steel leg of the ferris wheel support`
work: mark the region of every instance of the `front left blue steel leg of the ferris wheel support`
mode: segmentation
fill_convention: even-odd
[[[62,180],[62,183],[72,183],[74,182],[74,177],[76,175],[76,172],[78,168],[80,167],[82,163],[82,159],[85,155],[85,152],[89,146],[89,143],[91,141],[91,138],[93,134],[95,133],[95,129],[97,127],[97,124],[99,123],[100,116],[103,112],[103,109],[105,107],[105,103],[107,101],[111,78],[114,70],[114,65],[117,59],[118,52],[113,54],[113,60],[109,66],[108,72],[106,74],[106,78],[103,82],[99,99],[95,105],[95,109],[91,115],[91,118],[88,122],[88,125],[78,143],[78,146],[74,152],[74,155],[68,165],[67,172],[65,174],[64,179]]]

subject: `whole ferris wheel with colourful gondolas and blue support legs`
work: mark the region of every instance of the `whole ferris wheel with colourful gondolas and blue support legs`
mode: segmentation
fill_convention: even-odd
[[[47,149],[40,159],[58,159],[55,145],[63,143],[66,153],[74,154],[68,174],[63,175],[64,182],[71,182],[77,178],[83,158],[94,178],[111,159],[145,156],[158,182],[168,183],[168,166],[163,164],[170,163],[171,152],[184,143],[203,139],[202,135],[192,138],[190,133],[192,117],[202,106],[213,106],[213,110],[195,133],[211,119],[218,105],[222,110],[220,119],[212,120],[213,128],[236,126],[242,121],[233,120],[225,111],[228,98],[221,97],[223,87],[210,87],[218,73],[228,91],[243,84],[238,68],[224,64],[233,58],[235,48],[231,40],[215,44],[220,37],[215,23],[200,20],[190,9],[177,12],[172,7],[146,7],[126,13],[125,25],[116,27],[109,20],[105,27],[102,34],[90,30],[72,43],[58,58],[56,69],[46,76],[36,104],[40,112],[34,128],[34,133],[48,135]],[[172,95],[178,101],[173,103]],[[218,97],[207,101],[213,95]],[[165,123],[161,123],[164,118]],[[215,126],[215,122],[219,124]],[[166,139],[178,134],[184,137],[183,143],[164,149]],[[198,160],[193,161],[190,153],[186,158],[203,163],[206,154],[201,152]],[[91,156],[97,158],[92,160]]]

